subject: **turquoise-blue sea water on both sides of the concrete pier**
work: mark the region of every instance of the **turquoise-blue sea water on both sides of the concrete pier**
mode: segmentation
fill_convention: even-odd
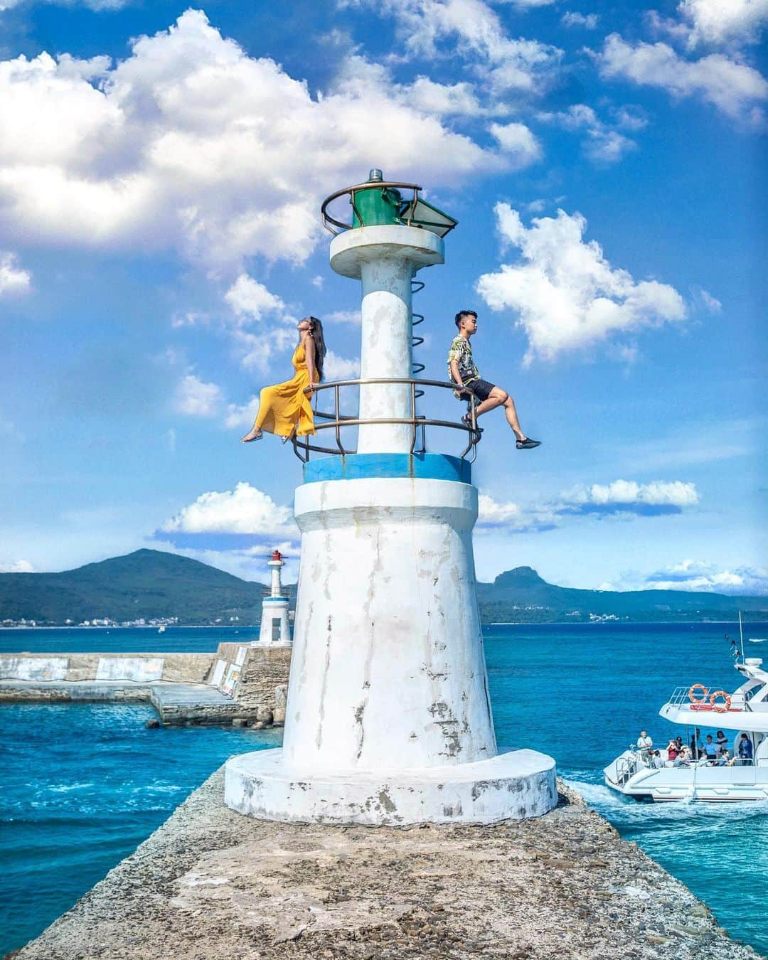
[[[0,631],[0,652],[207,651],[252,633]],[[734,938],[768,953],[768,804],[637,804],[602,782],[602,768],[640,728],[666,743],[674,728],[658,711],[675,686],[737,685],[726,633],[737,636],[737,625],[484,631],[499,749],[555,756],[561,775],[623,836],[706,900]],[[768,624],[746,624],[744,636],[768,636]],[[749,656],[764,649],[745,646]],[[228,756],[279,739],[249,730],[146,730],[151,716],[142,706],[0,706],[0,955],[71,907]]]

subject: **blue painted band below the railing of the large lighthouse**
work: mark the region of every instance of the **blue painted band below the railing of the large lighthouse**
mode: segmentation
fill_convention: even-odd
[[[382,477],[471,483],[472,468],[461,457],[445,453],[348,453],[304,464],[304,483]]]

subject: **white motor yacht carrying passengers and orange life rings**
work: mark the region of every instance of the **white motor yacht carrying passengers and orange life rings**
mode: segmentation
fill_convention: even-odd
[[[659,711],[664,720],[685,728],[684,744],[690,743],[697,729],[722,731],[732,748],[728,760],[685,762],[678,757],[673,761],[665,748],[660,749],[660,758],[652,751],[633,748],[605,768],[606,784],[636,800],[768,800],[768,672],[757,657],[741,657],[733,665],[743,681],[732,693],[704,684],[680,686]],[[749,745],[742,747],[740,756],[742,734]]]

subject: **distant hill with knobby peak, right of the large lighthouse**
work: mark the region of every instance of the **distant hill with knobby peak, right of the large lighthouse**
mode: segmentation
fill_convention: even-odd
[[[530,566],[500,573],[492,584],[478,584],[485,623],[586,622],[595,617],[654,620],[733,619],[741,610],[768,616],[768,597],[732,597],[689,590],[581,590],[556,587]]]

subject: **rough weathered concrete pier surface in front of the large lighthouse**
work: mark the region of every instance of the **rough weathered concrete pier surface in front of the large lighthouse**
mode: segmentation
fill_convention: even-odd
[[[538,820],[252,820],[221,771],[17,960],[745,960],[707,908],[562,787]]]

